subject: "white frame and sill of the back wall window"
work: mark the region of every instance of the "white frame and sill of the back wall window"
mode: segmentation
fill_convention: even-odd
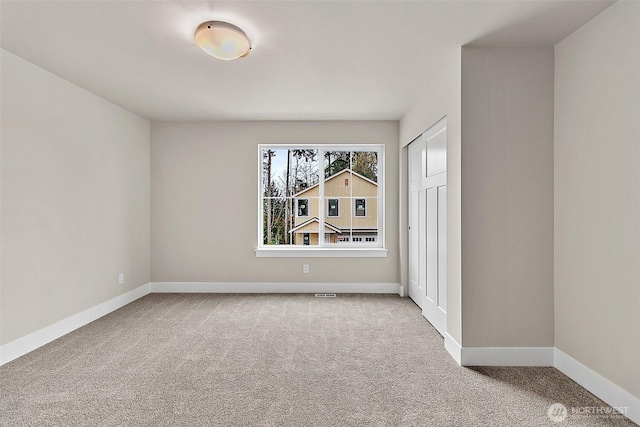
[[[318,245],[265,245],[263,243],[263,173],[262,173],[262,150],[264,149],[289,149],[308,148],[318,150],[318,230],[324,230],[325,209],[328,208],[328,198],[324,197],[324,155],[327,151],[375,151],[378,153],[378,238],[376,242],[354,242],[353,236],[349,236],[348,242],[342,244],[327,244],[322,238],[324,233],[319,233]],[[273,258],[293,258],[293,257],[354,257],[354,258],[382,258],[387,256],[385,239],[385,146],[383,144],[259,144],[258,145],[258,233],[256,245],[256,257]],[[351,183],[349,183],[351,184]],[[333,197],[332,197],[333,198]],[[340,197],[337,197],[338,199]],[[355,205],[355,197],[351,195],[352,203]],[[362,197],[358,197],[362,198]],[[322,201],[322,202],[321,202]],[[320,203],[321,202],[321,203]],[[296,206],[297,207],[297,206]],[[297,214],[297,209],[296,212]],[[311,212],[307,211],[308,217]],[[340,212],[338,212],[338,215]],[[353,215],[351,215],[353,216]],[[328,217],[327,218],[335,218]]]

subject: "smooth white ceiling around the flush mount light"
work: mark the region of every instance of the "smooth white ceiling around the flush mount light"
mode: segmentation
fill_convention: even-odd
[[[462,45],[553,45],[610,1],[2,1],[1,45],[151,120],[399,119]],[[228,20],[237,61],[192,41]]]

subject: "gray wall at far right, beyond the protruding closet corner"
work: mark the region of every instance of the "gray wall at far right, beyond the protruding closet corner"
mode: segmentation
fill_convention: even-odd
[[[555,342],[640,397],[640,3],[556,46]]]

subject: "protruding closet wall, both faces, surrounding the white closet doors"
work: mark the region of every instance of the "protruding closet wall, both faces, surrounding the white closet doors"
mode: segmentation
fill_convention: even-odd
[[[447,333],[465,347],[553,346],[553,49],[461,48],[400,122],[447,117]],[[464,236],[464,237],[463,237]]]

